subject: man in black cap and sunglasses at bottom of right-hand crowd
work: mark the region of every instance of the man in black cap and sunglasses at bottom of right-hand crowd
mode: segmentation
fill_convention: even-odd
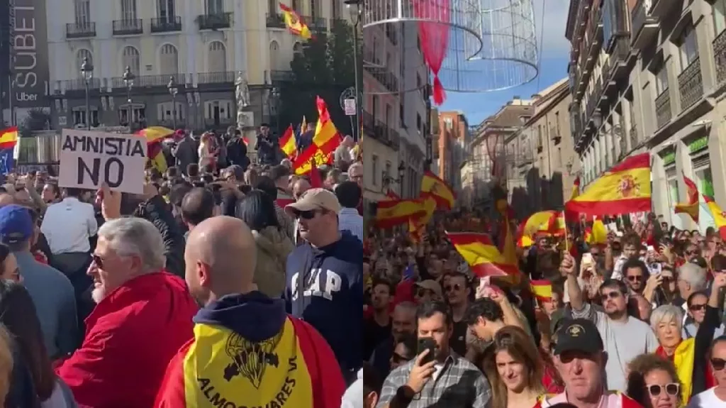
[[[578,408],[642,408],[619,391],[607,391],[605,362],[608,354],[595,323],[588,319],[566,319],[554,346],[555,366],[565,382],[565,392],[540,396],[534,408],[569,403]]]

